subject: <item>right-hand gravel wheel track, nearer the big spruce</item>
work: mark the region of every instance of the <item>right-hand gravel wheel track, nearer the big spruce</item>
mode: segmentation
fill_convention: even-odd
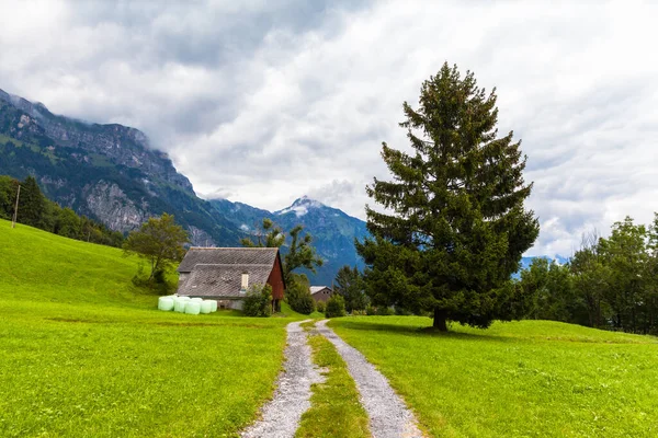
[[[386,378],[367,361],[354,347],[348,345],[331,328],[328,320],[316,327],[331,342],[356,382],[361,403],[370,417],[370,428],[374,438],[422,437],[417,420],[400,396],[390,388]]]

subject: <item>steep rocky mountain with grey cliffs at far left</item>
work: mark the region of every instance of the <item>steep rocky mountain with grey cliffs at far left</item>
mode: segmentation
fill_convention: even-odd
[[[241,235],[194,194],[169,157],[144,132],[87,124],[0,90],[0,174],[37,177],[46,195],[105,223],[131,231],[150,216],[175,216],[193,244],[238,244]]]

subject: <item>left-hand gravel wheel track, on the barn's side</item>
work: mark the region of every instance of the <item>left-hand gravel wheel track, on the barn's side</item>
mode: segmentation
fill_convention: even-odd
[[[286,326],[284,371],[276,381],[274,396],[261,410],[261,419],[245,429],[242,437],[294,437],[302,414],[310,407],[310,385],[325,381],[325,377],[311,360],[307,334],[299,326],[303,322],[306,321],[292,322]]]

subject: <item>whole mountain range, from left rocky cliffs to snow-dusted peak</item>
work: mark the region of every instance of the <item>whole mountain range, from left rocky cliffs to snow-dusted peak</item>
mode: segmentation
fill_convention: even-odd
[[[284,230],[302,223],[326,260],[310,276],[314,284],[330,285],[344,264],[361,266],[353,240],[365,235],[365,223],[341,210],[308,198],[274,212],[225,199],[203,200],[144,132],[55,115],[41,103],[2,90],[0,175],[34,175],[48,198],[122,232],[150,216],[172,214],[200,246],[239,245],[265,217]]]

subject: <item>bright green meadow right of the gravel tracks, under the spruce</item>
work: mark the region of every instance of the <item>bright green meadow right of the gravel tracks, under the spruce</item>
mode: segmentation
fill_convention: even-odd
[[[354,316],[331,327],[435,437],[658,436],[658,339],[549,321],[453,325]]]

